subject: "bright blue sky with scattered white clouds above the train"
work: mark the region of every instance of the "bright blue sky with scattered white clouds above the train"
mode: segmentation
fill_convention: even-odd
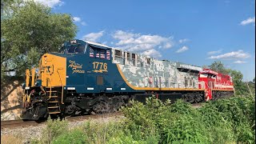
[[[196,66],[221,61],[255,77],[254,0],[37,1],[71,14],[78,39]]]

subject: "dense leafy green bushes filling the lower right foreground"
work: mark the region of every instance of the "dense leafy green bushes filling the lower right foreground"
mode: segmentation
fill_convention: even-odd
[[[251,97],[234,97],[196,109],[182,100],[170,105],[147,98],[146,105],[133,101],[122,111],[136,141],[153,135],[156,143],[251,143],[255,142],[254,103]]]

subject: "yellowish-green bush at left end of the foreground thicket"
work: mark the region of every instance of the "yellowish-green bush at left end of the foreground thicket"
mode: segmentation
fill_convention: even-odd
[[[122,109],[126,116],[127,129],[134,135],[135,140],[154,139],[158,142],[158,122],[162,113],[166,111],[167,103],[162,103],[156,98],[146,98],[146,105],[141,102],[132,101],[132,107]]]

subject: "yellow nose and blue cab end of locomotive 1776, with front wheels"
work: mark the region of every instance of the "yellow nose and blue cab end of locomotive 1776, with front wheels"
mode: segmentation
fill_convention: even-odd
[[[110,47],[82,40],[65,42],[58,53],[43,54],[38,68],[26,70],[22,119],[89,110],[94,102],[88,99],[94,94],[112,92],[110,54]]]

